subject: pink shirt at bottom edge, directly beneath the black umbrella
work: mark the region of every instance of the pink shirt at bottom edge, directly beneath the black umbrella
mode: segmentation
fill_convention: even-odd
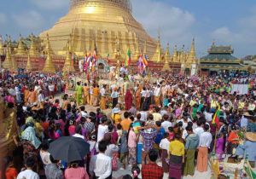
[[[65,170],[65,179],[89,179],[86,170],[82,167]]]

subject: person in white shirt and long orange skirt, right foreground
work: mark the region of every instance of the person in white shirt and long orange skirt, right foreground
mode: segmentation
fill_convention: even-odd
[[[208,148],[210,148],[212,142],[212,134],[208,130],[209,125],[205,124],[204,132],[201,133],[199,138],[196,169],[200,172],[207,171],[208,167]]]

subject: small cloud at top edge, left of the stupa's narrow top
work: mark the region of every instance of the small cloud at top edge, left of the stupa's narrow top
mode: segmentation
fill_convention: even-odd
[[[69,0],[29,0],[36,5],[39,9],[56,10],[67,9]]]

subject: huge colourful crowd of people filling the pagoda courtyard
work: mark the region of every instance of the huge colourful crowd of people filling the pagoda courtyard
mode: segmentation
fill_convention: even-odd
[[[14,151],[2,159],[2,176],[110,179],[129,166],[124,179],[160,179],[165,173],[180,179],[210,170],[210,153],[219,162],[247,159],[255,166],[255,78],[242,77],[248,91],[240,95],[231,94],[240,77],[154,76],[154,83],[135,81],[123,88],[78,82],[73,101],[61,77],[3,79],[1,101],[4,109],[15,110],[18,136]],[[49,143],[61,136],[83,139],[90,153],[82,161],[54,159]]]

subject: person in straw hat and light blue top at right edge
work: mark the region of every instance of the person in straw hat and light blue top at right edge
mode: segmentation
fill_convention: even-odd
[[[256,133],[247,132],[246,141],[236,148],[236,155],[247,158],[250,165],[254,168],[256,161]]]

